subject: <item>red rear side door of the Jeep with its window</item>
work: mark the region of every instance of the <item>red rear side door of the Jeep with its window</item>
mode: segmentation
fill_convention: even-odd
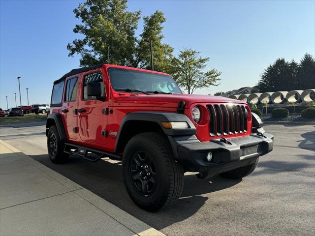
[[[78,76],[66,79],[61,114],[70,140],[76,140],[78,136],[78,87]]]

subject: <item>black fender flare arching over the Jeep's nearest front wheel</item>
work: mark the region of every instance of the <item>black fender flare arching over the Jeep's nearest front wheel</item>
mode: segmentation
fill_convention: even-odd
[[[173,112],[151,112],[151,111],[133,112],[133,113],[127,114],[120,125],[116,144],[115,144],[115,152],[117,152],[118,150],[119,142],[120,142],[121,136],[123,135],[125,124],[128,121],[132,121],[132,120],[156,122],[158,123],[163,133],[168,137],[169,136],[191,136],[191,135],[196,134],[195,126],[193,125],[191,120],[184,114],[178,114],[178,113],[173,113]],[[180,128],[180,129],[164,128],[161,125],[161,122],[163,121],[166,121],[166,122],[185,122],[186,121],[189,125],[189,128]]]

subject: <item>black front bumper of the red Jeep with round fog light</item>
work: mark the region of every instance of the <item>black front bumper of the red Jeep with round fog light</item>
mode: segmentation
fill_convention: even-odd
[[[172,137],[170,141],[173,150],[176,149],[175,157],[186,171],[210,176],[250,165],[273,149],[273,135],[267,133],[209,142],[199,142],[194,135]],[[207,154],[210,151],[212,160],[209,162]]]

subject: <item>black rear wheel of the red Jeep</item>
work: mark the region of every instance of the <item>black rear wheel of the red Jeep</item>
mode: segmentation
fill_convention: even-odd
[[[61,142],[57,127],[51,126],[47,136],[47,148],[50,160],[53,163],[64,163],[69,159],[69,154],[63,152],[64,144]]]

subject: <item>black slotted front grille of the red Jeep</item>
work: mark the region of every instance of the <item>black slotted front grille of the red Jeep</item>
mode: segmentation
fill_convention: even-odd
[[[207,105],[210,114],[210,136],[247,132],[246,107],[238,104]]]

